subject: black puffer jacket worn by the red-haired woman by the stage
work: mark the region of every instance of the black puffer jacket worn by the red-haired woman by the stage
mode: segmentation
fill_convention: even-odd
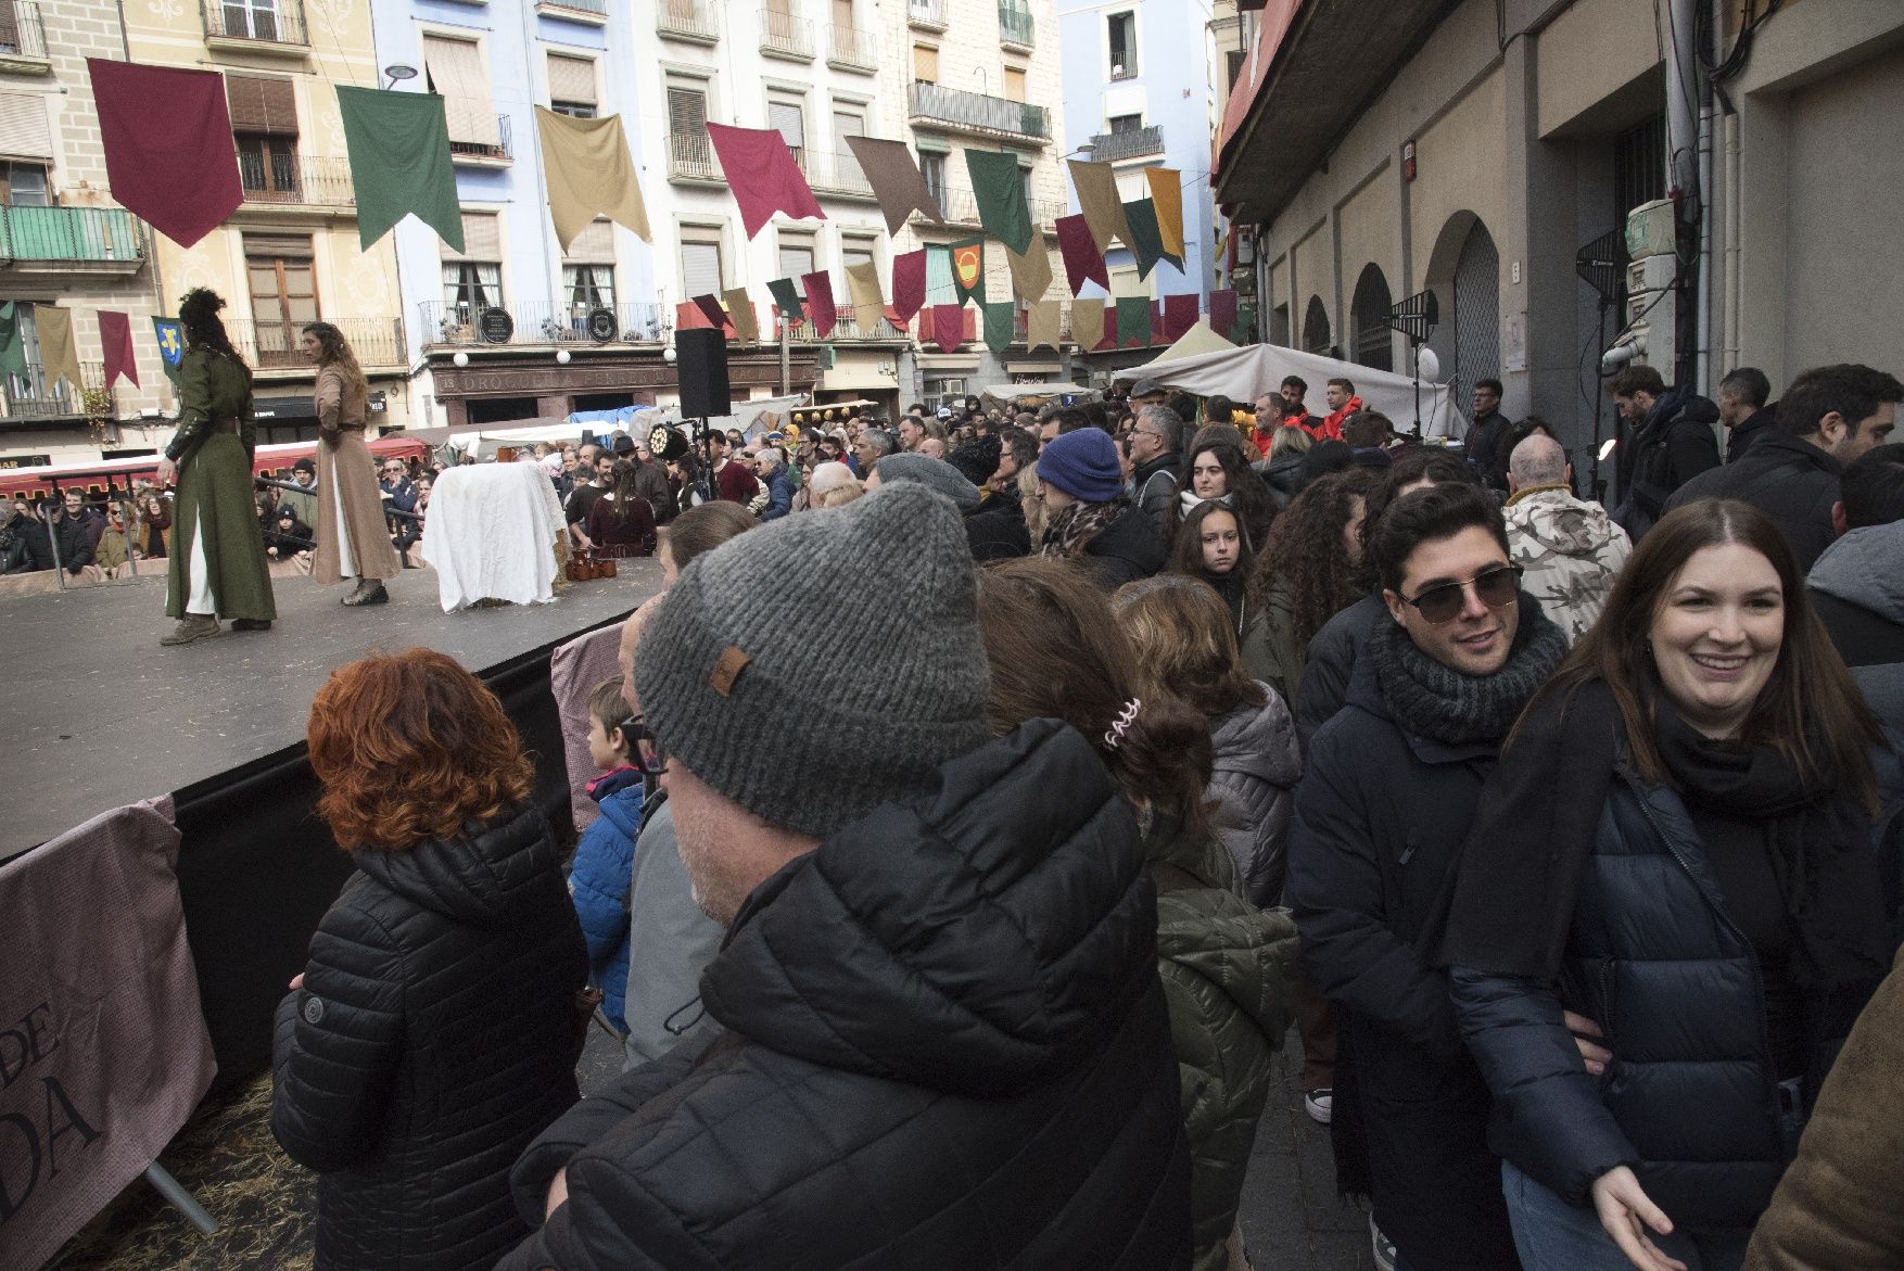
[[[318,1170],[316,1267],[491,1267],[516,1155],[575,1102],[588,953],[535,809],[358,873],[278,1007],[270,1128]]]

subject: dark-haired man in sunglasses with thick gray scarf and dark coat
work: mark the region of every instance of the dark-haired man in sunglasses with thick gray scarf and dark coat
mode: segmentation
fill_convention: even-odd
[[[1519,590],[1500,510],[1474,485],[1398,497],[1367,554],[1388,620],[1310,744],[1283,898],[1344,1035],[1335,1123],[1367,1144],[1348,1185],[1369,1191],[1396,1263],[1512,1271],[1491,1100],[1432,944],[1481,782],[1567,641]]]

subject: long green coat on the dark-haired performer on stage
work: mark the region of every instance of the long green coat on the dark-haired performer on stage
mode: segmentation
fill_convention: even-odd
[[[238,419],[238,432],[217,432],[213,420]],[[209,348],[188,348],[179,363],[179,430],[166,457],[179,464],[179,493],[171,510],[166,615],[185,616],[190,603],[192,540],[204,535],[211,597],[221,618],[278,616],[270,594],[265,540],[251,500],[251,453],[257,419],[251,413],[251,371]]]

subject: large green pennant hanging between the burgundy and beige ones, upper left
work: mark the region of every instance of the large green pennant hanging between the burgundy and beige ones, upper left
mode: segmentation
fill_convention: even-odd
[[[444,99],[339,84],[337,110],[356,186],[358,245],[369,251],[390,226],[415,213],[463,251],[463,207],[457,169],[449,162]]]

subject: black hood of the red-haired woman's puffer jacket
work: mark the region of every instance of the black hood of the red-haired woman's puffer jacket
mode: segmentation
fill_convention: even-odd
[[[543,900],[556,868],[554,835],[535,807],[455,839],[425,839],[407,852],[360,849],[350,862],[398,896],[470,927],[512,927]]]

